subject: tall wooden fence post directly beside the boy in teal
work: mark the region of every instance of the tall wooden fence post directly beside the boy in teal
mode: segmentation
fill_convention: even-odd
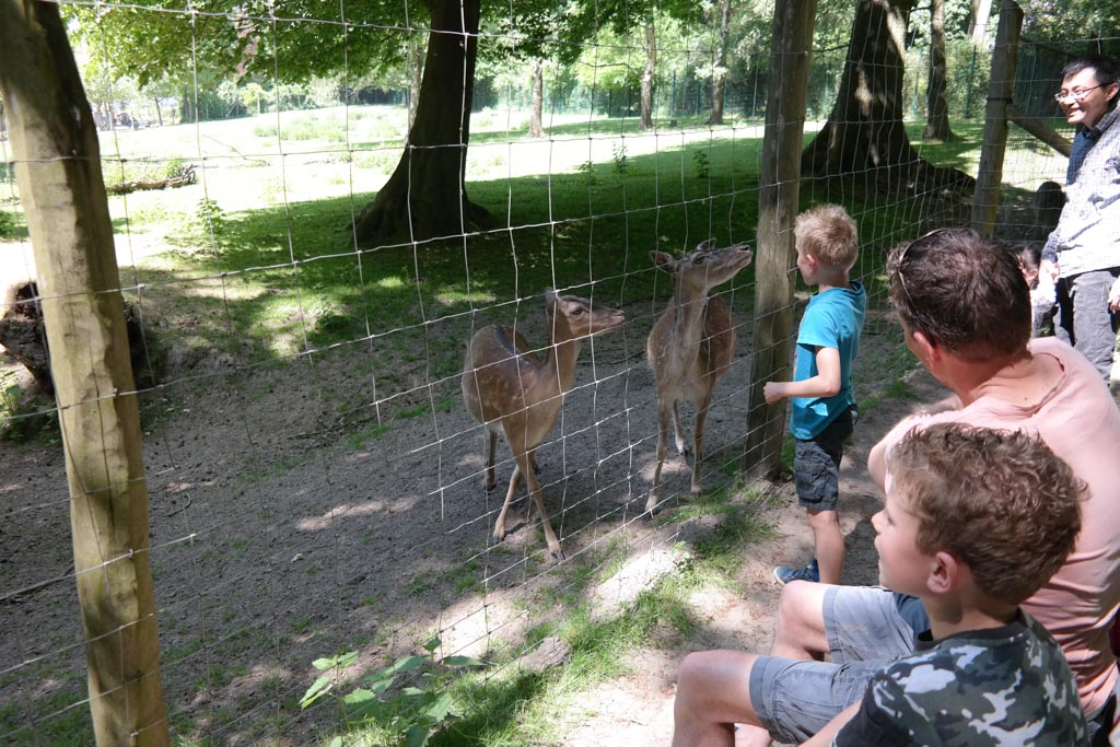
[[[750,411],[743,460],[748,471],[774,474],[781,468],[785,401],[767,405],[763,385],[772,379],[790,377],[794,334],[793,222],[800,194],[809,54],[815,19],[816,0],[777,0],[774,6],[758,194]]]

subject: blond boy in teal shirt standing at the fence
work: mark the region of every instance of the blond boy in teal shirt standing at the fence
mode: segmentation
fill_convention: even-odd
[[[858,417],[851,367],[867,311],[864,286],[848,279],[859,256],[856,222],[839,205],[821,205],[797,216],[797,269],[818,293],[797,329],[793,381],[769,381],[767,404],[790,398],[790,432],[795,439],[793,471],[797,503],[809,514],[815,558],[804,568],[780,566],[774,577],[840,583],[843,535],[837,515],[840,459]]]

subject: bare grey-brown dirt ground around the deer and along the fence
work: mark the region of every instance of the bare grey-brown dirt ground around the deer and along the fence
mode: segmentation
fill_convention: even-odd
[[[354,345],[282,365],[195,361],[144,394],[151,564],[172,734],[223,745],[309,744],[336,726],[327,709],[295,707],[315,676],[312,659],[357,650],[362,665],[379,665],[432,634],[441,654],[516,655],[525,632],[544,622],[542,599],[619,555],[627,559],[620,570],[586,594],[604,614],[624,610],[663,572],[674,544],[710,529],[702,520],[641,517],[656,440],[642,348],[657,310],[626,309],[622,332],[585,347],[576,390],[540,450],[545,501],[569,559],[562,572],[550,570],[539,527],[526,526],[524,501],[505,542],[491,538],[504,492],[478,487],[484,437],[461,407],[457,376],[418,376],[420,385],[379,400],[370,376],[356,373],[370,352]],[[525,325],[530,339],[542,338],[540,320]],[[709,486],[734,480],[741,452],[747,329],[709,418]],[[438,335],[428,342],[444,344]],[[870,372],[861,395],[889,383],[875,379],[876,356],[872,336],[861,354]],[[909,379],[921,398],[940,395],[922,372]],[[381,403],[362,410],[367,422],[357,435],[338,426],[339,402],[355,400]],[[869,517],[879,496],[866,478],[867,450],[913,407],[884,400],[865,408],[844,459],[849,582],[876,579]],[[691,421],[689,412],[688,428]],[[0,441],[0,740],[82,744],[84,655],[62,454]],[[510,471],[500,465],[500,485]],[[687,499],[688,464],[673,457],[666,471],[665,494]],[[558,719],[560,744],[598,745],[605,735],[614,745],[668,744],[675,669],[688,651],[768,647],[778,594],[772,568],[805,562],[811,536],[792,485],[765,487],[785,501],[767,510],[775,536],[753,547],[743,568],[747,594],[696,599],[700,634],[685,648],[635,652],[631,674]],[[557,607],[554,618],[564,611]]]

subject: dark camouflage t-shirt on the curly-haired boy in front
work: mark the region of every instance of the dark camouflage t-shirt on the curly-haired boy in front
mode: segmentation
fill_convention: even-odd
[[[1019,613],[1002,627],[920,639],[914,655],[875,675],[832,744],[1076,747],[1089,740],[1062,650]]]

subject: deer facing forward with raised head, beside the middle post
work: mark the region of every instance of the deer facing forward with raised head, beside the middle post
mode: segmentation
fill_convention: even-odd
[[[692,430],[692,495],[700,495],[700,461],[703,456],[703,426],[711,393],[730,368],[735,355],[735,326],[724,301],[712,291],[750,263],[754,255],[746,244],[716,250],[716,240],[700,243],[680,259],[665,252],[650,252],[653,264],[673,277],[673,299],[653,325],[645,353],[656,382],[657,467],[645,511],[657,510],[661,468],[665,463],[669,420],[673,421],[676,450],[688,457],[681,431],[678,403],[697,405]]]

